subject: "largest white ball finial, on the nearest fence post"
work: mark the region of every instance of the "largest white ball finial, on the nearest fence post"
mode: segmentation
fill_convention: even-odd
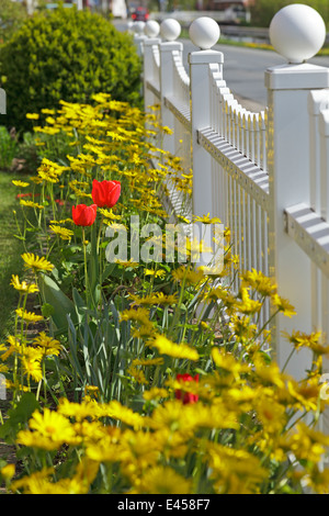
[[[326,24],[315,9],[293,3],[274,15],[270,24],[270,40],[277,54],[290,63],[304,63],[322,47]]]

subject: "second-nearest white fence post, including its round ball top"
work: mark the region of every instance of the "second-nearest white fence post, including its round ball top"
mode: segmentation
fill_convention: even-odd
[[[214,216],[212,205],[212,158],[198,145],[197,131],[211,126],[211,82],[209,65],[223,66],[222,52],[211,48],[219,38],[219,26],[207,18],[195,20],[190,26],[192,43],[200,47],[198,52],[189,55],[191,88],[191,123],[192,123],[192,166],[193,166],[193,215]]]

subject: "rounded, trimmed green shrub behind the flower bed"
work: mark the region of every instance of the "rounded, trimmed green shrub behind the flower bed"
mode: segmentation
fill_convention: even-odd
[[[26,113],[57,108],[59,100],[89,102],[111,93],[138,103],[140,60],[132,36],[100,14],[58,8],[27,20],[0,48],[9,127],[29,131]]]

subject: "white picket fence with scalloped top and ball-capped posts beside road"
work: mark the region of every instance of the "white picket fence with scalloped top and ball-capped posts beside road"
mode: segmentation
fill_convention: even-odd
[[[182,43],[174,41],[178,22],[162,22],[160,37],[155,27],[135,34],[145,106],[160,104],[161,123],[173,130],[163,135],[163,149],[193,170],[193,215],[218,216],[231,229],[241,268],[273,278],[296,309],[292,318],[275,319],[272,346],[280,367],[292,350],[283,332],[329,335],[329,69],[305,60],[319,48],[300,45],[298,30],[322,31],[310,19],[302,16],[302,27],[288,35],[295,42],[284,43],[288,29],[279,16],[286,49],[281,53],[294,63],[264,70],[268,108],[259,113],[230,92],[225,55],[211,48],[218,38],[212,20],[193,22],[200,25],[194,33],[190,29],[201,49],[189,55],[189,70]],[[294,45],[295,54],[287,49]],[[309,366],[310,354],[303,350],[287,372],[298,379]]]

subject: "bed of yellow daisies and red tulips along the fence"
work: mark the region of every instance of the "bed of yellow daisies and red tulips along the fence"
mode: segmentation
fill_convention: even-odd
[[[189,195],[192,178],[151,143],[156,115],[146,130],[136,108],[93,102],[44,113],[42,164],[16,182],[20,237],[35,238],[25,277],[12,277],[15,322],[0,346],[11,396],[0,437],[19,464],[0,460],[8,492],[328,492],[321,336],[287,336],[293,352],[313,351],[302,381],[279,370],[260,312],[293,306],[262,273],[239,270],[229,228],[216,274],[195,266],[193,242],[184,262],[175,239],[164,253],[157,231],[172,214],[159,192],[172,181]],[[150,232],[137,235],[136,217]]]

